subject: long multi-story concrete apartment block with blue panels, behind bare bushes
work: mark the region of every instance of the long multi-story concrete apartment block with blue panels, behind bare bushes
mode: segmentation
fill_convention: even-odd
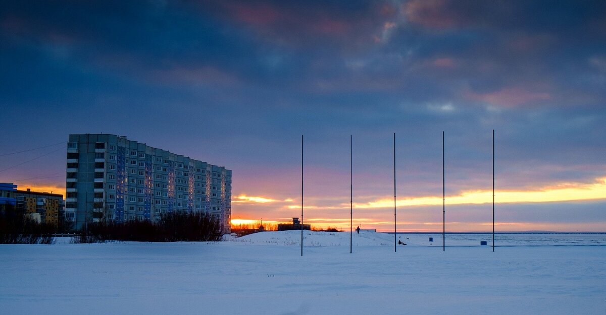
[[[65,219],[158,221],[164,213],[215,215],[230,230],[231,170],[124,136],[72,134],[67,144]]]

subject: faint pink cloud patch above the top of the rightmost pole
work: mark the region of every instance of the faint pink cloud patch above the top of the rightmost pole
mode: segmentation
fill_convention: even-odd
[[[541,101],[551,99],[549,93],[528,91],[524,88],[502,88],[499,91],[491,93],[466,93],[468,99],[481,100],[504,107],[515,107],[527,104],[533,101]]]

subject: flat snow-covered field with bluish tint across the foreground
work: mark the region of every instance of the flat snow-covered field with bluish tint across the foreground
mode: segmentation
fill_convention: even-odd
[[[0,245],[0,314],[606,314],[604,234],[353,236]]]

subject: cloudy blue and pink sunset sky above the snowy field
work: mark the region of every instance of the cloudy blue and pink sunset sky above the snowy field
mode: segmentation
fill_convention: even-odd
[[[5,1],[0,182],[65,193],[68,134],[233,170],[232,218],[606,232],[605,1]],[[46,146],[46,148],[41,148]],[[39,148],[39,149],[37,149]],[[30,149],[35,149],[28,151]],[[12,154],[13,152],[21,152]],[[248,222],[248,221],[241,221]]]

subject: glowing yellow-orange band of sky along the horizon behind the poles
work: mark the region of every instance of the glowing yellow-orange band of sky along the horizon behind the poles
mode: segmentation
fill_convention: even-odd
[[[556,186],[545,186],[539,187],[533,190],[496,190],[495,192],[495,203],[498,205],[503,204],[542,204],[542,203],[554,203],[554,202],[567,202],[567,201],[599,201],[606,200],[606,177],[596,178],[596,181],[591,184],[584,183],[565,183]],[[288,204],[288,201],[292,200],[296,202],[294,198],[288,198],[287,200],[279,200],[279,198],[269,197],[250,197],[247,196],[245,202],[248,202],[250,206],[255,203],[259,203],[257,200],[271,200],[267,205],[275,205],[278,213],[284,213],[284,210],[299,210],[301,209],[300,204]],[[348,203],[338,204],[314,204],[313,198],[308,198],[309,203],[304,206],[304,210],[307,211],[307,217],[305,222],[312,224],[313,227],[320,229],[326,229],[327,227],[336,227],[342,230],[349,230],[349,218],[335,218],[332,216],[317,216],[318,212],[334,211],[334,210],[348,210]],[[464,205],[482,205],[492,203],[492,190],[466,190],[458,195],[450,195],[446,197],[446,205],[449,206],[464,206]],[[440,206],[442,205],[442,196],[426,196],[426,197],[401,197],[398,198],[398,208],[410,208],[410,207],[428,207],[428,206]],[[393,231],[393,221],[385,221],[384,219],[376,218],[379,213],[377,211],[391,211],[393,210],[393,199],[381,198],[374,201],[367,201],[362,203],[354,203],[354,209],[358,210],[359,215],[362,210],[367,215],[362,215],[361,218],[355,218],[357,226],[361,224],[367,229],[377,229],[381,231]],[[441,209],[440,209],[441,210]],[[256,210],[259,212],[261,209]],[[238,212],[238,210],[235,210]],[[293,213],[296,215],[298,212]],[[371,216],[368,216],[371,215]],[[392,214],[393,215],[393,214]],[[262,215],[267,216],[267,215]],[[239,213],[241,218],[251,218],[251,215],[247,213]],[[268,219],[274,222],[290,222],[290,216],[267,216]],[[250,222],[258,222],[259,220],[248,219]],[[447,219],[448,220],[448,219]],[[266,221],[266,220],[264,220]],[[438,232],[439,227],[442,226],[441,221],[398,221],[398,230],[405,232]],[[479,227],[491,226],[492,222],[461,222],[461,221],[447,221],[447,227],[449,230],[458,232],[476,232]],[[522,230],[553,230],[553,231],[571,231],[578,230],[574,228],[574,224],[564,224],[561,222],[495,222],[497,227],[507,227],[508,231],[522,231]],[[432,226],[436,226],[432,228]],[[593,230],[604,230],[604,226],[601,222],[587,222],[584,226],[591,227]]]

